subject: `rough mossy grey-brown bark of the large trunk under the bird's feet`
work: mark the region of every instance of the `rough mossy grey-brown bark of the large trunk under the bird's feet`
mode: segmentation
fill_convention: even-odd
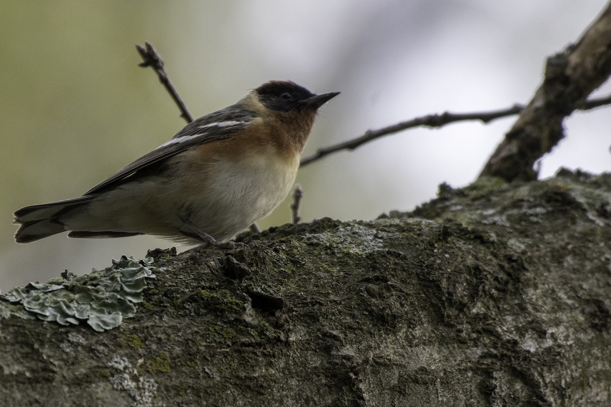
[[[563,171],[244,234],[251,248],[155,251],[118,328],[0,319],[0,400],[607,406],[610,223],[611,175]]]

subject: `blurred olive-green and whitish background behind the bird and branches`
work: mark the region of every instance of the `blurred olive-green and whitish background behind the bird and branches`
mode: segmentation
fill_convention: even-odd
[[[323,107],[307,155],[419,115],[526,103],[546,57],[576,40],[605,4],[2,1],[0,290],[172,246],[153,237],[12,238],[16,209],[81,195],[185,125],[155,73],[137,67],[136,43],[155,46],[194,117],[269,79],[342,92]],[[611,170],[609,109],[569,118],[568,137],[544,157],[541,174]],[[413,209],[441,182],[469,184],[513,120],[414,129],[327,156],[298,175],[302,218],[373,219]],[[259,225],[290,222],[289,204]]]

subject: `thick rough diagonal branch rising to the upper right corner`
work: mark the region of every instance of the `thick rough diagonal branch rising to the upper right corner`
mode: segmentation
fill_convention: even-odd
[[[578,109],[610,74],[611,3],[608,3],[575,45],[547,59],[543,84],[494,151],[480,177],[497,176],[507,181],[536,179],[533,165],[565,137],[565,117]]]

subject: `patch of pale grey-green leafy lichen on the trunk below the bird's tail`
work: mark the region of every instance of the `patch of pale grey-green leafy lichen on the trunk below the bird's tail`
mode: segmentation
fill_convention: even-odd
[[[104,270],[68,279],[54,278],[46,283],[29,283],[0,294],[0,318],[16,316],[62,325],[86,321],[94,330],[110,330],[123,318],[136,314],[133,303],[142,301],[147,278],[155,278],[152,258],[138,262],[122,256]]]

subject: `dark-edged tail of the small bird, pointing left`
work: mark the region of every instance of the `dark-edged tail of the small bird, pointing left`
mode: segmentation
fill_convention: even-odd
[[[89,203],[95,195],[84,195],[64,201],[22,207],[15,211],[13,223],[19,225],[15,242],[29,243],[51,236],[67,229],[60,221],[66,212]]]

